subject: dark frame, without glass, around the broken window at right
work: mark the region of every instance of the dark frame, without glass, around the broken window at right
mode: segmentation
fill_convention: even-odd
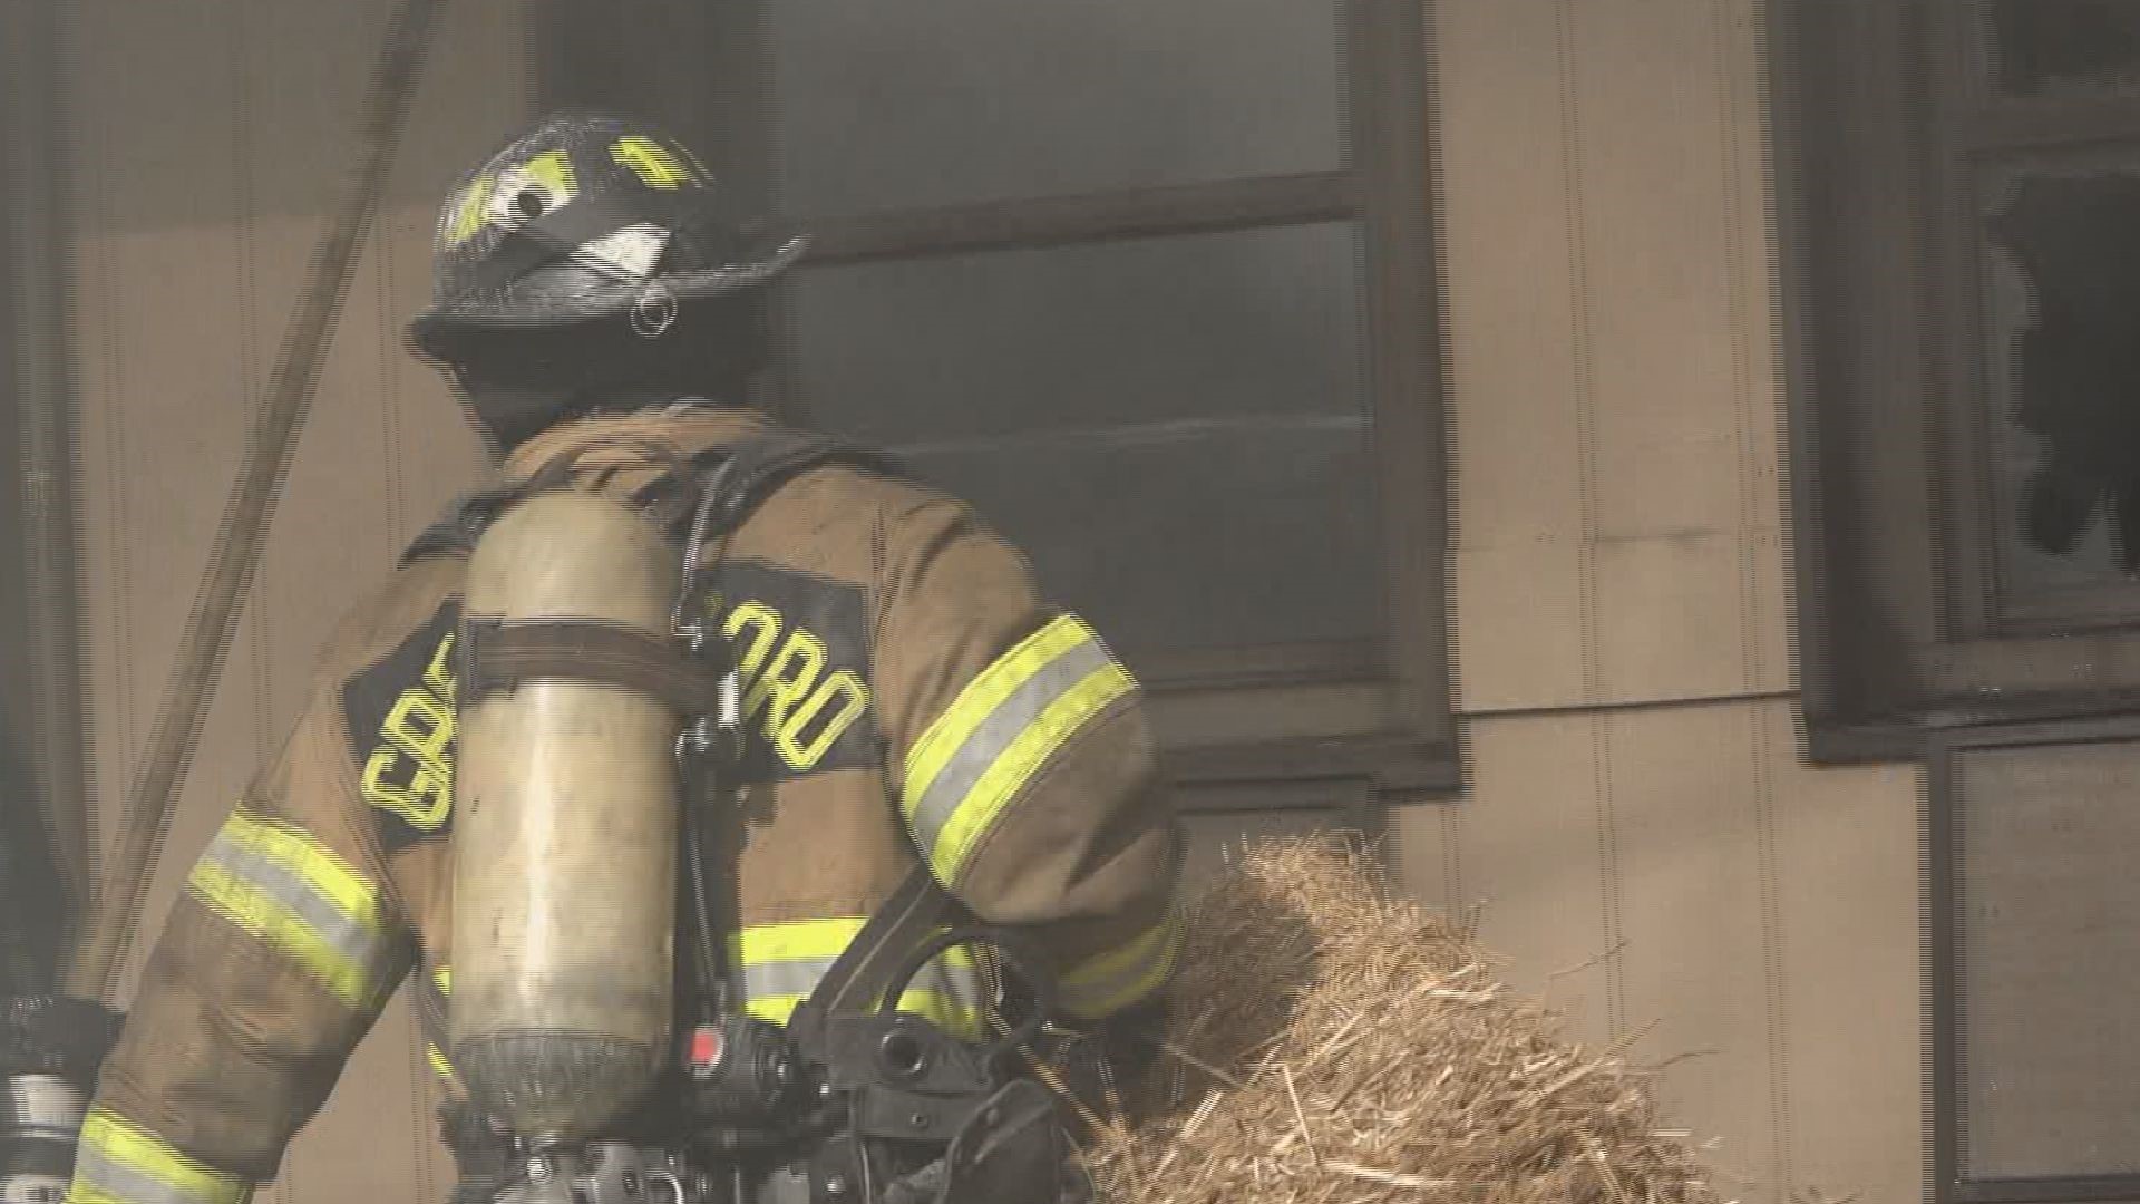
[[[1917,761],[1945,728],[2140,709],[2140,628],[2001,615],[1980,266],[1947,167],[2020,141],[2140,146],[2140,99],[1954,118],[1969,47],[1952,9],[1768,13],[1800,690],[1823,765]],[[2140,587],[2116,593],[2140,615]]]

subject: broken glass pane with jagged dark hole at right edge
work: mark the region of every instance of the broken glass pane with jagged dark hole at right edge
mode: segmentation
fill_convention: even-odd
[[[2140,161],[1999,171],[1984,212],[2003,591],[2125,581],[2140,566]]]

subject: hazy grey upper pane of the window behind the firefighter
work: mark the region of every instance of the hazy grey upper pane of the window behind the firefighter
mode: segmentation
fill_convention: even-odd
[[[860,214],[1344,167],[1340,4],[768,4],[781,208]]]

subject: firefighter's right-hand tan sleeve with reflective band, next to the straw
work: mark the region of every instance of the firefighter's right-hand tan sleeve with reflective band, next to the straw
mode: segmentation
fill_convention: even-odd
[[[1036,938],[1072,1018],[1151,1000],[1181,836],[1138,683],[965,506],[922,503],[880,548],[877,703],[916,848],[974,915]]]

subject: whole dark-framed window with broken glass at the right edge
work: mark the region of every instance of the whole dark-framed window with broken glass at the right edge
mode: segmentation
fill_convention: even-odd
[[[2134,709],[2140,4],[1776,15],[1815,758]]]

